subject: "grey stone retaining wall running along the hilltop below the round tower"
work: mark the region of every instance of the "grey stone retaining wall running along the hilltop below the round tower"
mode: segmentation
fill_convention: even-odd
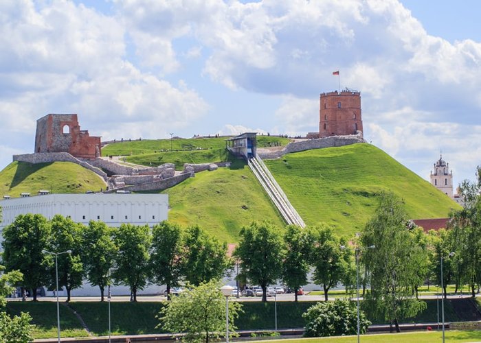
[[[311,149],[320,149],[323,147],[342,147],[355,143],[365,143],[362,138],[362,133],[352,134],[350,136],[333,136],[320,139],[309,139],[306,141],[291,142],[287,144],[282,150],[270,151],[267,149],[258,148],[257,153],[260,158],[278,158],[291,152],[301,152]]]

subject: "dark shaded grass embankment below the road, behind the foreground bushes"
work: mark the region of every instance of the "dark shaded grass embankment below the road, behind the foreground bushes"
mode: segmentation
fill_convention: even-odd
[[[446,322],[459,322],[452,306],[453,300],[445,301]],[[454,300],[460,301],[460,300]],[[298,329],[304,327],[302,314],[315,302],[281,302],[277,303],[278,328]],[[111,303],[111,327],[113,335],[139,335],[144,333],[162,333],[159,328],[159,320],[156,318],[159,310],[164,305],[161,302],[117,302]],[[60,306],[60,328],[63,337],[85,337],[87,332],[82,328],[78,319],[74,316],[76,311],[87,324],[93,335],[107,335],[109,328],[108,303],[100,302],[73,302],[71,309]],[[243,312],[235,320],[239,330],[273,330],[275,328],[273,302],[243,302]],[[10,314],[19,314],[20,311],[30,312],[33,323],[36,324],[34,338],[56,337],[56,303],[50,301],[9,301],[8,311]],[[369,317],[369,316],[368,316]],[[427,310],[418,314],[416,318],[401,320],[401,322],[436,322],[436,300],[427,300]],[[464,318],[463,320],[469,320]],[[385,322],[372,320],[374,324]],[[368,336],[366,336],[368,337]]]

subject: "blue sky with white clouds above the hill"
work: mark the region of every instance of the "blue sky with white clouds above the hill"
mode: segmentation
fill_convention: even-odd
[[[481,1],[2,0],[0,169],[36,119],[110,139],[318,131],[361,92],[364,138],[429,180],[481,164]],[[366,161],[369,163],[369,161]]]

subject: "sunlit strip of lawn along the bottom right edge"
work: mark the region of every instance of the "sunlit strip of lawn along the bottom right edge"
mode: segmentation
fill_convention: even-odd
[[[481,340],[481,331],[445,331],[447,342],[478,342]],[[407,332],[407,333],[383,333],[375,335],[362,335],[361,342],[366,343],[437,343],[441,342],[443,334],[440,331],[423,331],[423,332]],[[252,341],[251,341],[252,342]],[[265,342],[254,341],[254,342]],[[326,343],[354,343],[357,342],[357,336],[332,337],[332,338],[300,338],[287,340],[269,340],[269,342],[286,342],[286,343],[309,343],[309,342],[326,342]]]

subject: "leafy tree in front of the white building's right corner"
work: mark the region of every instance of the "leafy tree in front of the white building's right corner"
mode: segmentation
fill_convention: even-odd
[[[150,281],[166,285],[170,298],[170,287],[179,285],[182,278],[182,230],[177,224],[161,222],[152,228],[150,251]]]

